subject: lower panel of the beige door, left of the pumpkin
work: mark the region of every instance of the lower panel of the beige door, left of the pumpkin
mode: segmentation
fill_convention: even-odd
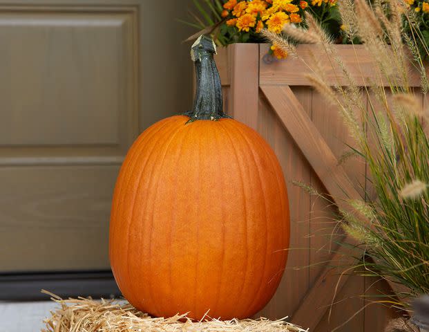
[[[107,268],[106,228],[118,168],[0,169],[2,270]]]

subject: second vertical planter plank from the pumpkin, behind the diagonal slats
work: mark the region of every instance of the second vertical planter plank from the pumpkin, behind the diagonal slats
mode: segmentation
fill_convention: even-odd
[[[312,91],[312,96],[312,122],[336,159],[341,160],[342,156],[350,151],[350,147],[347,147],[347,144],[354,146],[356,143],[350,136],[347,127],[345,127],[338,109],[332,107],[320,93]],[[356,109],[355,112],[357,115],[359,110]],[[363,160],[349,158],[345,163],[336,165],[336,167],[341,167],[344,170],[354,187],[358,189],[360,196],[362,196],[365,189],[365,163]],[[314,173],[311,184],[318,192],[327,192],[321,180]],[[325,266],[318,263],[329,261],[332,256],[332,250],[339,249],[335,242],[341,241],[343,232],[338,223],[333,220],[333,216],[337,213],[335,206],[323,199],[312,196],[310,264],[314,267],[310,268],[311,282],[325,268]],[[316,331],[330,331],[330,329],[335,329],[343,324],[339,331],[363,331],[363,300],[359,297],[363,293],[362,277],[352,276],[347,278],[347,282],[345,282],[341,291],[332,291],[333,304],[328,306],[327,312],[318,324]],[[344,303],[347,303],[347,305],[343,305]],[[322,310],[325,309],[323,308]],[[355,315],[355,313],[357,314]],[[345,324],[353,316],[354,318]]]

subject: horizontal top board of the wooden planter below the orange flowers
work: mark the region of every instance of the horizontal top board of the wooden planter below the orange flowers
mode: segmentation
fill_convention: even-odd
[[[311,64],[314,57],[320,57],[321,51],[317,46],[301,44],[296,48],[299,59],[287,59],[278,61],[271,59],[265,61],[269,46],[261,44],[260,47],[260,84],[265,85],[289,85],[289,86],[308,86],[310,82],[305,77],[312,73]],[[374,66],[374,57],[365,50],[362,45],[334,45],[336,51],[343,59],[346,68],[350,71],[356,84],[360,86],[369,85],[369,82],[376,81],[376,71]],[[325,57],[325,55],[322,55]],[[334,66],[332,68],[329,62],[322,62],[325,70],[325,80],[330,85],[347,86],[347,80],[343,77],[341,68]],[[420,86],[420,75],[416,68],[410,64],[410,86]],[[388,86],[388,82],[384,82]]]

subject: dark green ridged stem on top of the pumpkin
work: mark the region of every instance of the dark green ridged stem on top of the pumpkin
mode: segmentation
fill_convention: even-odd
[[[197,86],[193,110],[185,113],[190,117],[188,122],[229,118],[222,110],[222,86],[213,54],[216,54],[216,44],[206,35],[201,35],[191,47]]]

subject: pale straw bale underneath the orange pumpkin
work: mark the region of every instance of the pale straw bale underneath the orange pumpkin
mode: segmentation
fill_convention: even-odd
[[[125,300],[93,300],[84,297],[61,299],[51,296],[59,305],[44,320],[46,329],[41,332],[305,332],[300,327],[282,320],[216,320],[193,322],[184,315],[169,318],[151,317],[138,311]]]

